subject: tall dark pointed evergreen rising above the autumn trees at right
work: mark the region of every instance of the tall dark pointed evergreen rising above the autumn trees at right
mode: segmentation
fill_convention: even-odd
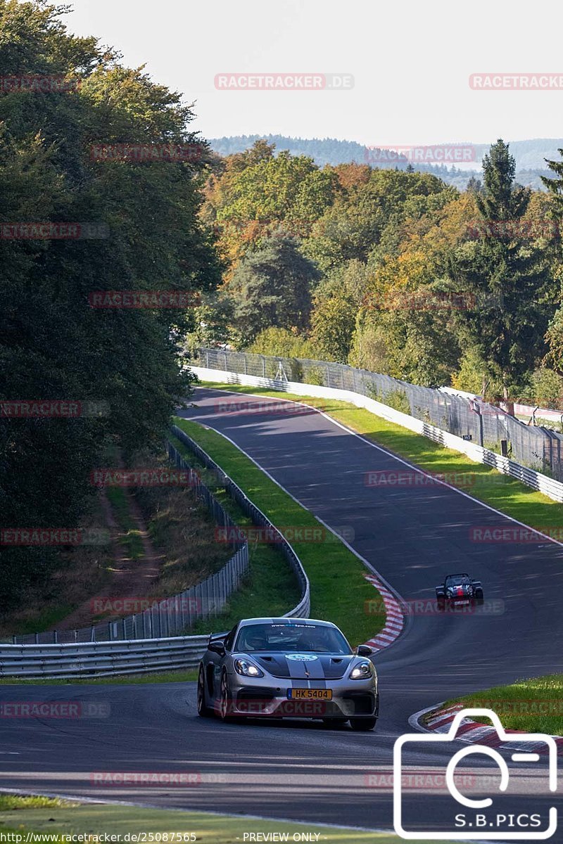
[[[461,295],[456,311],[464,344],[501,380],[503,398],[533,367],[547,327],[542,302],[547,260],[526,235],[522,218],[530,192],[514,184],[516,163],[498,140],[483,161],[484,187],[475,194],[482,225],[473,242],[455,250],[449,274]]]

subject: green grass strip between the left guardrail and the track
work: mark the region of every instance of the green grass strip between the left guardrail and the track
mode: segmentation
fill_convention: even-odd
[[[219,463],[274,525],[325,531],[311,512],[274,484],[224,436],[197,422],[179,417],[174,421]],[[326,533],[323,542],[291,544],[311,582],[311,618],[333,621],[355,646],[375,636],[382,629],[385,616],[365,613],[365,602],[379,598],[374,587],[365,580],[365,566],[338,538]],[[252,609],[252,614],[257,614],[257,608]]]

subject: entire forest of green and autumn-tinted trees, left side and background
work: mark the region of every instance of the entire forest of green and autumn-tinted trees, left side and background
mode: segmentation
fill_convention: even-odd
[[[543,192],[519,187],[499,140],[459,191],[434,172],[320,166],[261,138],[221,157],[180,94],[69,34],[63,12],[0,0],[0,77],[68,83],[0,95],[3,527],[79,526],[108,446],[160,448],[202,344],[561,406],[563,162]],[[124,144],[198,154],[92,153]],[[90,235],[17,234],[77,224]],[[91,306],[123,290],[196,306]],[[9,418],[26,400],[99,412]],[[4,544],[0,610],[48,582],[57,555]]]

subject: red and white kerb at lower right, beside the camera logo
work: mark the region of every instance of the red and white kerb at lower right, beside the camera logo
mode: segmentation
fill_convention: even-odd
[[[419,730],[420,733],[449,733],[452,721],[456,717],[457,712],[461,711],[467,706],[461,703],[453,704],[452,706],[445,706],[444,704],[435,704],[428,706],[427,709],[421,709],[420,712],[415,712],[409,718],[409,724],[414,729]],[[431,712],[430,718],[425,718]],[[422,719],[425,722],[422,723]],[[499,738],[498,733],[494,727],[489,724],[482,724],[474,721],[472,718],[463,718],[459,728],[457,728],[456,738],[466,744],[484,744],[485,747],[506,749],[506,750],[523,750],[528,753],[534,752],[538,754],[547,754],[549,752],[547,745],[544,742],[521,742],[517,744],[519,735],[526,735],[523,730],[509,730],[505,729],[505,733],[511,736],[510,744]],[[512,738],[513,737],[513,738]],[[557,755],[563,755],[563,737],[552,736],[557,745]]]

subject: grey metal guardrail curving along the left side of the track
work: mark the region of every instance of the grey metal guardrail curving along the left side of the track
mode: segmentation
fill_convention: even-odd
[[[223,472],[217,463],[214,463],[207,452],[204,452],[180,428],[175,427],[173,431],[174,435],[216,474],[219,483],[225,486],[225,489],[247,515],[252,517],[255,524],[268,527],[269,530],[278,535],[279,547],[283,550],[291,568],[295,571],[295,576],[301,587],[300,602],[286,615],[291,618],[307,618],[311,610],[309,580],[299,557],[290,544],[273,526],[268,517],[246,497],[240,487]],[[181,454],[170,443],[168,452],[179,468],[189,468]],[[207,490],[207,487],[205,489]],[[207,493],[211,495],[209,490],[207,490]],[[215,503],[220,507],[219,502],[215,500]],[[223,511],[223,508],[221,508],[221,511]],[[226,513],[225,516],[227,516]],[[230,523],[232,524],[232,522]],[[242,552],[246,554],[247,565],[247,544],[237,554]],[[211,579],[208,578],[208,580]],[[198,587],[201,586],[202,584],[198,584]],[[198,587],[194,588],[197,590]],[[131,618],[133,619],[133,617]],[[111,622],[111,624],[122,625],[124,620],[126,619]],[[87,628],[87,630],[90,630],[90,628]],[[127,625],[123,630],[127,633]],[[133,628],[133,636],[135,632],[135,628]],[[137,628],[137,632],[140,632],[140,628]],[[51,644],[37,644],[35,642],[33,644],[0,644],[0,677],[72,679],[73,677],[109,677],[115,674],[149,674],[154,671],[196,668],[199,660],[203,657],[207,642],[208,635],[165,636],[149,639],[125,638],[118,641],[57,642]]]

